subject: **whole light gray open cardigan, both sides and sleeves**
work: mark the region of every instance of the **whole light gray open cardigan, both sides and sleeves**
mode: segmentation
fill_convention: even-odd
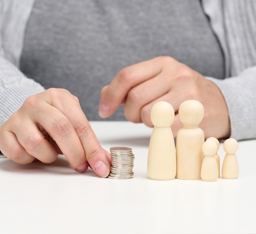
[[[28,96],[44,90],[34,77],[31,80],[19,70],[33,4],[34,0],[0,1],[0,124]],[[256,2],[202,0],[202,7],[224,53],[225,79],[207,78],[218,85],[225,97],[231,137],[256,138]]]

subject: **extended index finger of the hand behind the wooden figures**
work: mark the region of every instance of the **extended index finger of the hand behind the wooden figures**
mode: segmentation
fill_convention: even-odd
[[[157,76],[162,70],[162,65],[158,60],[159,58],[153,58],[119,71],[110,85],[101,93],[99,115],[102,118],[111,116],[123,103],[132,87]]]

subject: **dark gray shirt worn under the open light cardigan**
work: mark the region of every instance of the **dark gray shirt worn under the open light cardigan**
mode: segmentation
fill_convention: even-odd
[[[101,88],[122,68],[157,56],[225,77],[220,44],[199,0],[36,0],[20,70],[46,89],[68,89],[89,120],[102,120]],[[106,120],[125,120],[123,108]]]

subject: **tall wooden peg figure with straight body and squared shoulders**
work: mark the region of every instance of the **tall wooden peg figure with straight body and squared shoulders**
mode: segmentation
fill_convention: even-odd
[[[177,132],[176,177],[184,180],[201,179],[201,167],[204,159],[202,145],[204,132],[198,127],[204,116],[203,105],[196,100],[186,100],[179,108],[179,117],[183,128]]]

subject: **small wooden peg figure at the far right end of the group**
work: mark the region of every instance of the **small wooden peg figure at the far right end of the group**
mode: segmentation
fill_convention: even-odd
[[[238,142],[234,138],[225,140],[223,149],[226,155],[223,160],[221,174],[225,179],[236,179],[239,174],[238,161],[236,151],[238,150]]]

